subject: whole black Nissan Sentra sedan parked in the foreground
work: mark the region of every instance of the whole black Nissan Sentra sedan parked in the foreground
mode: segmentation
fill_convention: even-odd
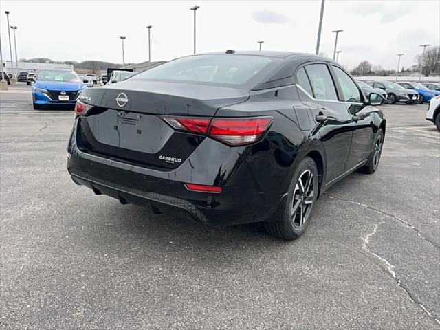
[[[264,221],[270,234],[296,239],[329,186],[377,169],[381,103],[325,57],[186,56],[85,89],[67,170],[122,204],[213,225]]]

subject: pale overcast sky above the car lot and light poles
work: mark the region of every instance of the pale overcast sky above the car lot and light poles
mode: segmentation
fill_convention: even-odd
[[[5,10],[17,25],[19,58],[56,61],[152,61],[192,54],[192,11],[197,10],[197,52],[290,50],[314,53],[320,0],[317,1],[0,1],[3,58],[10,59]],[[325,3],[320,52],[332,56],[335,35],[340,63],[362,60],[395,69],[415,63],[421,43],[440,44],[440,1],[337,1]],[[11,36],[12,38],[12,36]],[[13,41],[12,41],[13,43]]]

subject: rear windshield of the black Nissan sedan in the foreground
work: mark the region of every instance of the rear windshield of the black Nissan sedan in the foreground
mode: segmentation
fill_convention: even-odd
[[[137,74],[136,78],[242,85],[271,62],[272,59],[263,56],[188,56],[153,67]]]

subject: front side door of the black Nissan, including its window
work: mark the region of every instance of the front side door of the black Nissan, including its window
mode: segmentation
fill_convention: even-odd
[[[345,102],[353,120],[350,154],[347,164],[345,164],[346,170],[350,170],[366,161],[370,156],[375,134],[374,119],[372,117],[375,108],[364,103],[362,91],[344,69],[337,65],[331,65],[331,69],[340,88],[342,100]]]

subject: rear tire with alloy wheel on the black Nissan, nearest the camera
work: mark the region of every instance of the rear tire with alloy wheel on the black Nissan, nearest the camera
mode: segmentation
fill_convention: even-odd
[[[318,169],[313,159],[305,157],[296,168],[290,183],[282,219],[265,222],[265,230],[287,241],[297,239],[309,225],[317,197]]]

